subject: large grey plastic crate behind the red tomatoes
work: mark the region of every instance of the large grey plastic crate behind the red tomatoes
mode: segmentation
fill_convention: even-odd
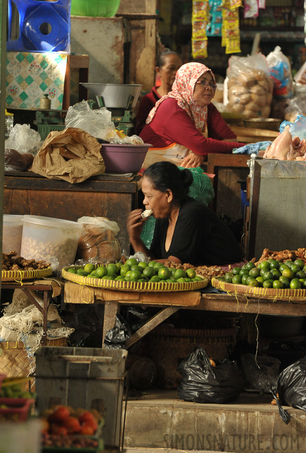
[[[127,351],[43,346],[35,356],[38,412],[58,404],[96,409],[105,445],[119,447]]]

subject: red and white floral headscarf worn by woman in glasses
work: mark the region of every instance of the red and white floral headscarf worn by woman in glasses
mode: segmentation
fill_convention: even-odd
[[[199,132],[203,132],[207,120],[207,106],[200,107],[194,100],[193,93],[195,84],[199,77],[209,71],[213,82],[215,83],[214,74],[212,71],[201,63],[186,63],[181,66],[175,76],[175,81],[172,85],[172,91],[166,96],[163,96],[150,111],[146,124],[150,123],[156,114],[158,106],[167,98],[174,98],[178,101],[178,105],[188,113]]]

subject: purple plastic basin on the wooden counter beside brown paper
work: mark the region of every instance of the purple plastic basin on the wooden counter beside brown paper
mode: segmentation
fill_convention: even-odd
[[[148,143],[134,144],[102,144],[101,154],[104,159],[106,173],[137,173],[141,169]]]

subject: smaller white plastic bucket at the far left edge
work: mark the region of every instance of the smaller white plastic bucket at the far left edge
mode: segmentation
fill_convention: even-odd
[[[3,214],[2,251],[4,253],[16,252],[20,255],[23,215]]]

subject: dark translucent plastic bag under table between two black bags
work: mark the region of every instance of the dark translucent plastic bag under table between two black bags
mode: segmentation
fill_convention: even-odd
[[[246,380],[252,389],[269,393],[279,375],[280,361],[275,357],[242,354],[241,362]]]

